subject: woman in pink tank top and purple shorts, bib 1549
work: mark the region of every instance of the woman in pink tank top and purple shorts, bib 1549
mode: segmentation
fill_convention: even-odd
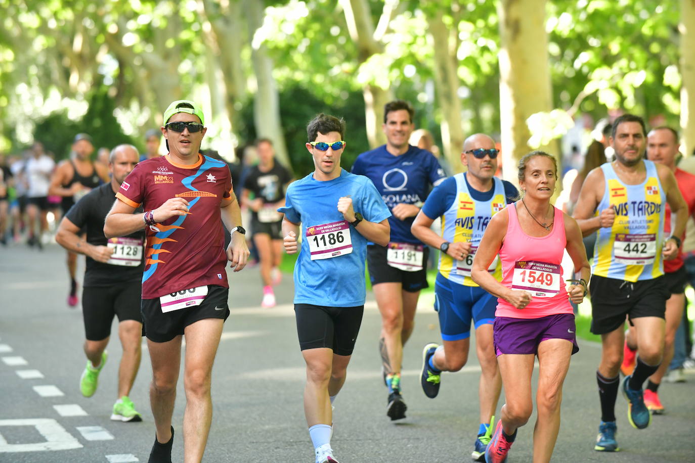
[[[486,462],[503,462],[533,411],[531,377],[534,357],[540,365],[538,419],[533,461],[549,462],[557,440],[562,383],[569,360],[579,350],[569,301],[582,302],[587,292],[589,261],[577,222],[550,204],[557,181],[557,162],[543,151],[525,155],[518,164],[521,201],[507,206],[489,222],[480,242],[471,276],[498,296],[493,339],[505,387]],[[562,256],[567,250],[578,280],[565,287]],[[502,281],[487,267],[499,253]],[[527,459],[528,460],[528,459]]]

